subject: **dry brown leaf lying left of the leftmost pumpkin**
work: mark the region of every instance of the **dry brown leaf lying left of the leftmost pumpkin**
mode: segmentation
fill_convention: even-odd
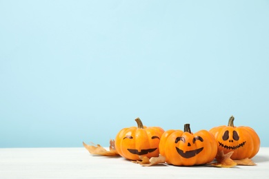
[[[117,150],[114,147],[114,140],[110,139],[109,151],[103,148],[101,145],[87,145],[83,142],[83,146],[90,152],[90,154],[100,155],[100,156],[119,156]]]

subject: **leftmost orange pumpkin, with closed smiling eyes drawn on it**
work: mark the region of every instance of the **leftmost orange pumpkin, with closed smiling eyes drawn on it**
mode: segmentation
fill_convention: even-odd
[[[159,142],[164,130],[161,127],[143,126],[140,118],[135,121],[137,127],[121,129],[115,138],[119,155],[130,160],[141,160],[139,156],[159,156]]]

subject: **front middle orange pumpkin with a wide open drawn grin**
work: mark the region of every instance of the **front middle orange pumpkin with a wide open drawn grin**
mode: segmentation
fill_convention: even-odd
[[[217,142],[212,134],[200,130],[195,134],[190,125],[184,125],[184,131],[170,129],[163,133],[159,151],[172,165],[203,165],[214,160],[217,154]]]

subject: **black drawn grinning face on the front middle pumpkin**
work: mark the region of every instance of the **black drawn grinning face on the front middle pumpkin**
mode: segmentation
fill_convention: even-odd
[[[176,147],[177,153],[183,158],[192,158],[196,156],[203,150],[203,147],[193,149],[193,146],[196,147],[195,144],[197,143],[197,140],[199,140],[200,142],[203,142],[203,138],[201,138],[201,136],[195,136],[193,138],[186,138],[184,136],[177,137],[175,140],[175,143],[176,144],[181,143],[181,147],[184,148],[184,149],[183,148],[179,149],[179,147]]]

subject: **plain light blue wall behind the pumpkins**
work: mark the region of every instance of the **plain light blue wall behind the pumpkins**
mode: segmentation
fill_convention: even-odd
[[[0,1],[0,147],[250,126],[269,147],[269,1]]]

